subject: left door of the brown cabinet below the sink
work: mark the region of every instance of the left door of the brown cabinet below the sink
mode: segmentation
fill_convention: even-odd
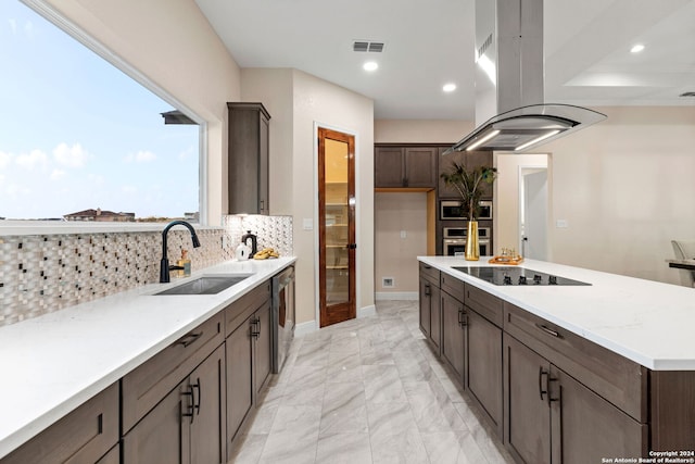
[[[253,405],[253,356],[251,319],[247,318],[227,338],[227,449]]]

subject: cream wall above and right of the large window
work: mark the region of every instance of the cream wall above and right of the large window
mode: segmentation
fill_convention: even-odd
[[[195,2],[46,2],[207,122],[207,217],[219,225],[227,209],[226,102],[239,100],[241,77]]]

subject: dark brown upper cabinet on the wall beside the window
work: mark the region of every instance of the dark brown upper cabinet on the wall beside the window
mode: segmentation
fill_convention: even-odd
[[[227,103],[229,214],[269,214],[268,126],[262,103]]]

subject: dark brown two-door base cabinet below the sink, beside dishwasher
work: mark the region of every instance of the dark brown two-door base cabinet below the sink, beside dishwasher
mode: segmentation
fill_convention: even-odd
[[[227,449],[258,403],[271,368],[270,286],[264,284],[226,310]],[[231,460],[233,456],[228,455]]]

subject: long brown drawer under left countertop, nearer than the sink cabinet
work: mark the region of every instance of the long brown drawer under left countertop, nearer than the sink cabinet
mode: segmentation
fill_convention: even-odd
[[[129,430],[224,340],[217,313],[122,379],[123,430]]]

